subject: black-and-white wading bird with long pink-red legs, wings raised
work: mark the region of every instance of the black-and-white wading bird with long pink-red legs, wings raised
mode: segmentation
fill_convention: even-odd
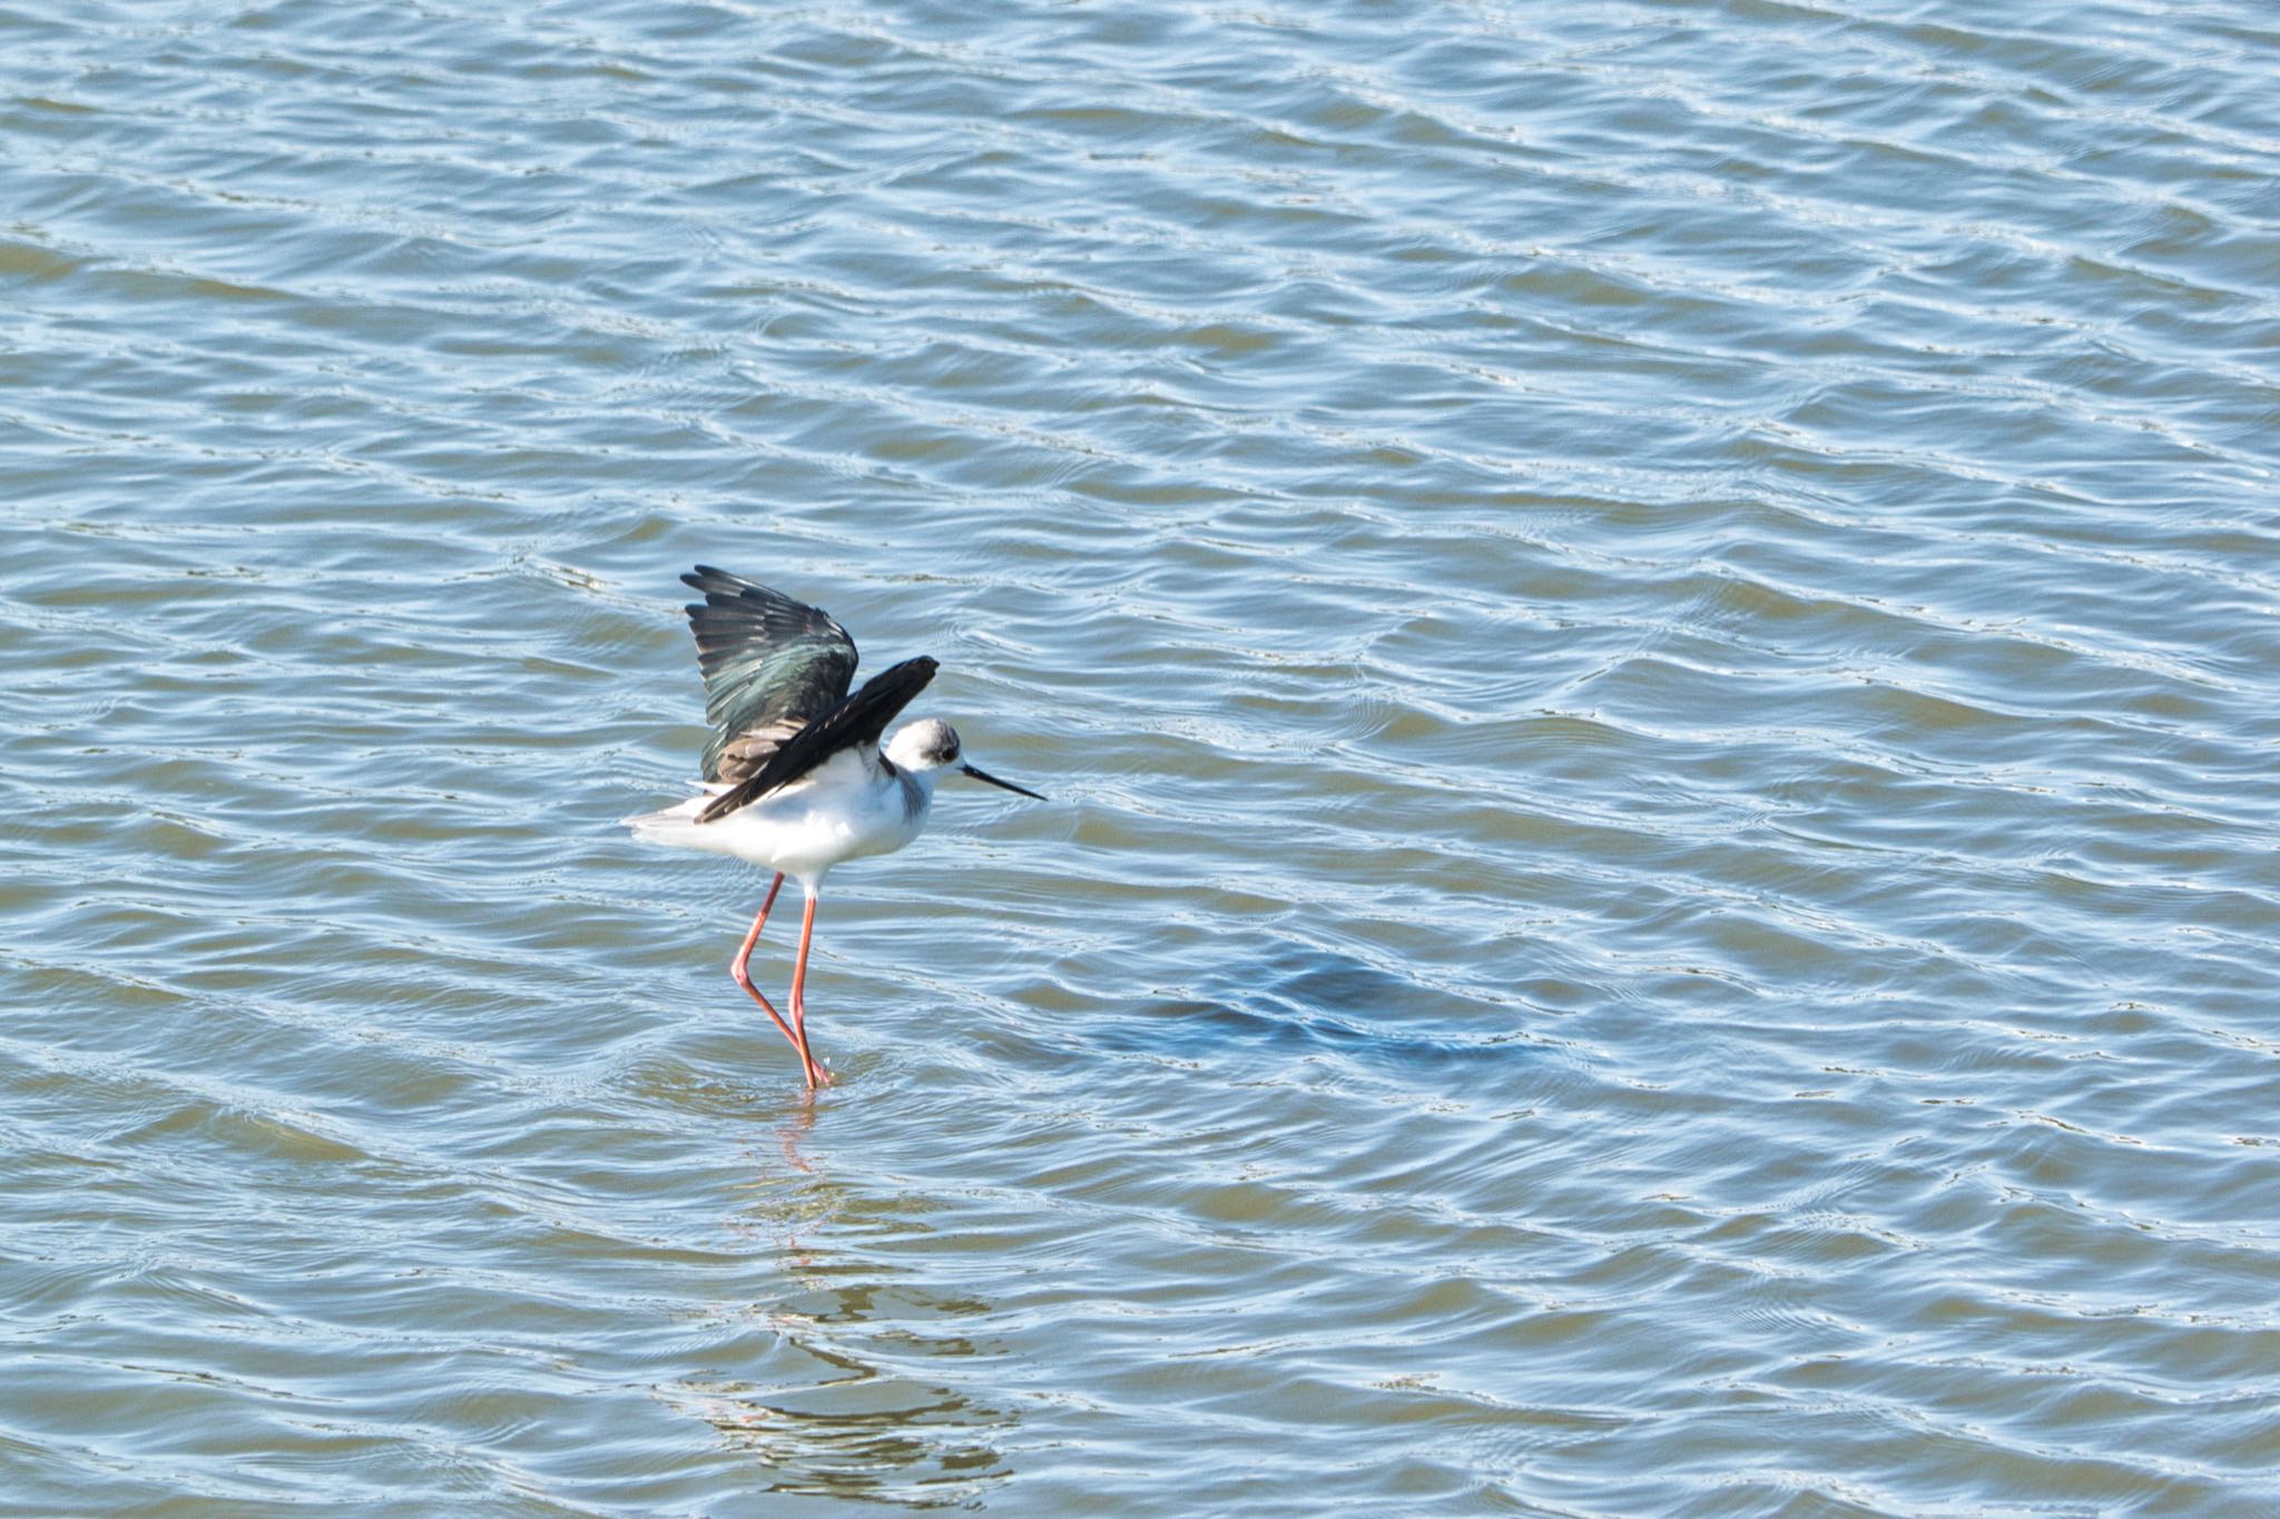
[[[702,793],[627,818],[625,827],[645,843],[730,854],[775,872],[730,975],[798,1050],[814,1093],[832,1079],[807,1043],[807,945],[823,877],[841,861],[891,854],[914,840],[946,774],[1047,797],[967,763],[958,729],[939,717],[910,722],[882,742],[887,724],[935,679],[939,665],[926,654],[880,670],[850,692],[855,640],[821,608],[711,565],[698,565],[682,583],[705,597],[686,608],[714,731]],[[807,895],[789,1023],[750,972],[784,877]]]

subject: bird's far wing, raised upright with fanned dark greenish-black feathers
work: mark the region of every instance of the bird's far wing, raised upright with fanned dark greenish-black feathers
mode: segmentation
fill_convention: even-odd
[[[705,779],[734,786],[846,701],[855,640],[823,610],[711,565],[682,581],[705,592],[689,604],[705,672],[705,722],[714,726]]]

